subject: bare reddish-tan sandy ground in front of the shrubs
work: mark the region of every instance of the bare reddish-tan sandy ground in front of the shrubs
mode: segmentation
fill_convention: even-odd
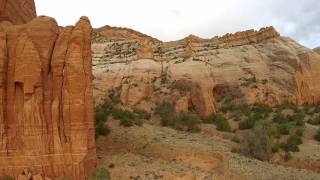
[[[113,180],[319,179],[310,170],[284,167],[231,153],[221,133],[186,133],[145,123],[125,128],[109,120],[111,133],[97,140],[99,166]],[[214,127],[212,127],[214,129]]]

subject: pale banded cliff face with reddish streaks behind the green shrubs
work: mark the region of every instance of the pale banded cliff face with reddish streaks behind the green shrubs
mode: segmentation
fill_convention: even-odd
[[[230,99],[269,105],[320,101],[320,56],[273,27],[152,43],[111,39],[100,31],[100,40],[92,42],[97,103],[115,87],[125,107],[170,100],[178,111],[192,108],[201,115]]]

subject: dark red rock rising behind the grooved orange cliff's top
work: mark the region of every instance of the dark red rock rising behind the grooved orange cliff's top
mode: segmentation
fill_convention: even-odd
[[[37,16],[34,0],[1,0],[0,21],[24,24]]]

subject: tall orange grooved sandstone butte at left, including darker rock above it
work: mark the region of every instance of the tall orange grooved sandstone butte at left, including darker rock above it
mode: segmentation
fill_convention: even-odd
[[[0,8],[0,177],[86,179],[96,165],[90,21],[31,20],[32,1]]]

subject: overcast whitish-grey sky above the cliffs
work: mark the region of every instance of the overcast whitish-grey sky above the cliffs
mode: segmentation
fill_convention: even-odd
[[[35,0],[38,15],[72,25],[129,27],[163,41],[203,38],[273,25],[301,44],[320,46],[320,0]]]

